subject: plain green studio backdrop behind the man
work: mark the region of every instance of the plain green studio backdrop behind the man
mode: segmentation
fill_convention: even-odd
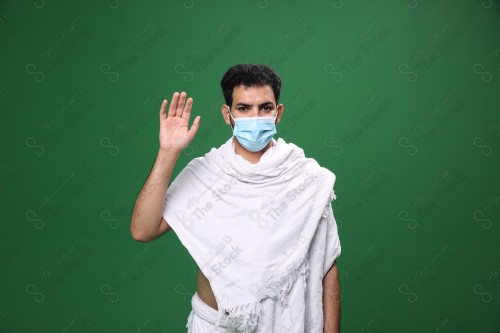
[[[0,331],[185,332],[194,261],[129,231],[161,100],[201,115],[175,176],[265,63],[337,175],[342,332],[500,332],[499,37],[486,0],[2,1]]]

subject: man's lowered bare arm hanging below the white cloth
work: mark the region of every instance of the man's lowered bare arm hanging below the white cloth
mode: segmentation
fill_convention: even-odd
[[[340,332],[340,281],[337,261],[323,278],[323,333]]]

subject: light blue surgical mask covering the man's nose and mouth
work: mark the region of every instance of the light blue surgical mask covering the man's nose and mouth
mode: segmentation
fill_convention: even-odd
[[[231,108],[229,108],[229,115]],[[257,152],[262,150],[276,134],[276,116],[233,118],[233,135],[246,150]]]

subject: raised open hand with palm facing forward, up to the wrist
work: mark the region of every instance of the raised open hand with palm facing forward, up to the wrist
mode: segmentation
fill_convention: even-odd
[[[190,97],[186,102],[185,92],[175,92],[172,95],[168,114],[167,105],[168,101],[165,99],[160,108],[160,149],[180,154],[198,132],[200,116],[196,116],[188,130],[193,99]]]

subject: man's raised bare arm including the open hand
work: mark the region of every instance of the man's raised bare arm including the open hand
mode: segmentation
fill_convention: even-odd
[[[160,149],[151,172],[139,193],[132,212],[130,233],[136,241],[152,241],[168,230],[168,221],[162,217],[165,195],[175,162],[182,150],[191,142],[199,128],[197,116],[188,130],[193,99],[186,102],[186,93],[174,93],[168,115],[168,101],[160,107]]]

